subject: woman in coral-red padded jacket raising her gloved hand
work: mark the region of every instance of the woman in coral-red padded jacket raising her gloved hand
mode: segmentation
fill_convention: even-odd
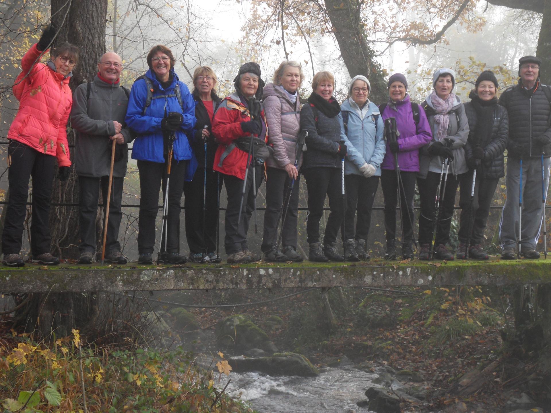
[[[50,254],[48,211],[56,158],[60,180],[67,180],[71,167],[66,128],[73,103],[69,79],[78,62],[78,48],[65,43],[52,50],[47,64],[41,63],[40,57],[47,52],[55,35],[52,26],[46,28],[39,42],[25,53],[21,59],[22,73],[13,88],[20,104],[8,132],[9,199],[2,233],[3,263],[9,267],[25,265],[20,250],[30,177],[33,178],[33,261],[46,265],[60,263]]]

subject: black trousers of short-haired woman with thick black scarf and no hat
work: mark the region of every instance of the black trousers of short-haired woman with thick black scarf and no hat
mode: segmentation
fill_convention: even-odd
[[[339,227],[343,223],[344,205],[341,193],[341,169],[315,167],[302,170],[308,190],[308,214],[306,215],[306,235],[309,244],[320,242],[320,220],[323,216],[325,196],[329,197],[329,218],[325,226],[323,243],[337,240]]]

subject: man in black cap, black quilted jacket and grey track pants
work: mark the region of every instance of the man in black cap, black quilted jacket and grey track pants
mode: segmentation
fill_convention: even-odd
[[[507,142],[507,199],[499,224],[501,258],[514,259],[518,242],[520,208],[519,189],[522,173],[522,234],[521,254],[525,258],[539,258],[536,251],[543,219],[543,188],[547,193],[551,161],[551,118],[549,86],[539,81],[541,60],[525,56],[518,61],[518,85],[507,89],[499,104],[509,115]],[[543,154],[543,165],[541,156]],[[520,170],[522,160],[522,171]]]

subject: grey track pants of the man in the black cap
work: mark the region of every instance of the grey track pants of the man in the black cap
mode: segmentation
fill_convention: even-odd
[[[549,185],[551,160],[543,158],[544,188]],[[520,189],[520,160],[507,157],[507,199],[499,222],[501,248],[516,248],[518,240],[518,213]],[[522,160],[522,234],[521,248],[536,249],[543,220],[542,163],[540,157]]]

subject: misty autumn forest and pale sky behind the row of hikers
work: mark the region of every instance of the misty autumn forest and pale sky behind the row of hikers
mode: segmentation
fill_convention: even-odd
[[[80,33],[79,25],[88,25],[87,31],[97,26],[96,32],[101,35],[105,29],[105,50],[115,51],[122,57],[121,81],[128,88],[147,69],[145,56],[156,44],[172,49],[177,61],[176,73],[190,90],[193,70],[197,66],[212,66],[219,78],[216,90],[222,97],[233,91],[233,78],[242,63],[260,63],[268,83],[274,69],[285,58],[302,64],[305,79],[300,93],[303,98],[311,92],[313,74],[329,70],[336,75],[335,96],[339,102],[347,97],[349,79],[356,74],[369,76],[372,101],[377,105],[385,102],[386,78],[394,72],[406,74],[412,100],[422,102],[431,90],[431,74],[439,67],[456,70],[455,93],[468,101],[468,93],[482,70],[494,70],[503,91],[516,82],[518,58],[535,54],[544,62],[543,83],[551,81],[551,24],[548,22],[551,0],[55,0],[56,4],[53,3],[54,0],[52,4],[42,0],[0,2],[0,140],[4,142],[18,108],[11,86],[20,72],[20,58],[39,39],[41,27],[51,20],[63,23],[68,10],[71,10],[68,18],[73,19],[69,24],[74,25],[75,37]],[[86,20],[87,9],[95,7],[106,8],[105,23]],[[58,12],[52,15],[52,9]],[[67,38],[72,40],[71,36],[69,30]],[[94,41],[93,37],[83,44],[87,41]],[[93,79],[95,62],[83,63],[75,70],[72,88]],[[0,157],[5,158],[7,145],[0,143],[0,150]],[[3,165],[0,168],[1,201],[8,195],[7,165]],[[74,258],[78,253],[78,211],[72,205],[78,202],[77,182],[73,176],[68,183],[56,183],[52,195],[53,203],[63,204],[52,207],[52,252],[63,258]],[[299,204],[302,208],[306,207],[305,189],[302,183]],[[259,208],[264,206],[264,197],[262,186],[257,200]],[[504,199],[502,180],[494,197],[493,205],[497,208],[491,210],[485,240],[494,252],[497,251],[499,206]],[[133,160],[128,164],[123,204],[139,204],[138,171]],[[379,190],[368,240],[375,254],[380,254],[385,240],[382,205]],[[225,206],[225,191],[221,206]],[[2,218],[4,210],[2,208]],[[136,259],[138,209],[126,206],[123,213],[120,233],[123,252],[130,259]],[[263,211],[259,211],[260,229],[262,221]],[[299,249],[307,252],[305,221],[306,211],[302,210],[299,212]],[[25,225],[29,224],[27,220]],[[458,214],[453,220],[454,243],[457,226]],[[98,215],[98,240],[100,228]],[[224,211],[221,211],[221,246],[223,229]],[[187,252],[183,217],[180,231],[181,252]],[[260,245],[262,230],[255,234],[251,228],[249,239],[251,245]],[[28,240],[24,242],[24,249],[29,249]]]

